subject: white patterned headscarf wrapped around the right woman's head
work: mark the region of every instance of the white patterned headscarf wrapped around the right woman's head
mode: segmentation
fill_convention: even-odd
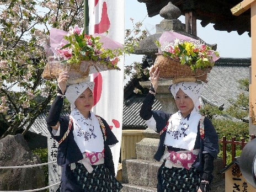
[[[182,89],[183,92],[193,100],[196,111],[199,111],[200,109],[199,98],[201,96],[202,90],[204,89],[204,83],[179,82],[179,83],[170,85],[169,89],[174,98],[176,97],[178,90]]]

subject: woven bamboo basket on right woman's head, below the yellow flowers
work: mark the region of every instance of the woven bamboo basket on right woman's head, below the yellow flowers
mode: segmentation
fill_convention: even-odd
[[[179,61],[162,54],[157,54],[154,69],[157,67],[160,71],[159,78],[172,79],[173,83],[197,80],[207,83],[207,73],[211,71],[211,67],[192,71],[189,65],[181,65]]]

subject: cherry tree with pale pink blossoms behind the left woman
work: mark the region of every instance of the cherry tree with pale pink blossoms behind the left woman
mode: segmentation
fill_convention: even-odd
[[[56,81],[42,78],[47,62],[42,45],[51,27],[82,27],[83,6],[83,0],[0,1],[1,138],[20,130],[25,135],[55,97]],[[124,32],[125,44],[137,45],[147,35],[140,27],[138,22]],[[141,34],[137,38],[132,31]]]

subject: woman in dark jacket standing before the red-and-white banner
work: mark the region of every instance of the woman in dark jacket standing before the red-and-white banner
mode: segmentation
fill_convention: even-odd
[[[57,191],[120,191],[115,178],[110,146],[118,143],[106,121],[90,111],[94,82],[66,85],[67,72],[58,77],[58,92],[46,119],[58,141],[57,164],[62,166]],[[66,89],[67,88],[67,89]],[[61,116],[64,96],[71,104],[70,116]]]

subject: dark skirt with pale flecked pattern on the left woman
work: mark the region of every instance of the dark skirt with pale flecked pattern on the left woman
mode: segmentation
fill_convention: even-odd
[[[70,167],[68,166],[67,169],[70,169]],[[104,164],[93,166],[92,173],[89,173],[81,163],[76,163],[76,168],[68,170],[69,173],[67,173],[67,169],[66,174],[68,174],[68,183],[69,185],[74,185],[75,188],[73,188],[73,186],[72,188],[76,191],[119,192],[122,189],[122,184],[116,180],[115,176],[112,175],[107,168],[105,168]],[[63,190],[60,187],[57,191]]]

